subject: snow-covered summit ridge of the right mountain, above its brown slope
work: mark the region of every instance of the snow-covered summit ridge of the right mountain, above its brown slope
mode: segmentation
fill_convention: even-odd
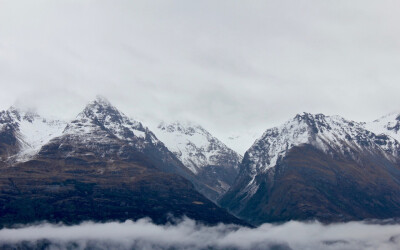
[[[246,152],[250,172],[265,172],[273,168],[288,151],[302,144],[312,145],[326,154],[357,160],[359,152],[379,152],[391,158],[399,154],[399,143],[387,136],[377,136],[363,123],[340,116],[302,113],[279,127],[265,131]],[[245,156],[246,157],[246,156]]]

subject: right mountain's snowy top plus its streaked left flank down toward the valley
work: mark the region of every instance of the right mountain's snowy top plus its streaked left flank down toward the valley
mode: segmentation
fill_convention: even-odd
[[[323,155],[324,159],[318,158],[316,164],[322,169],[338,162],[357,167],[372,162],[397,165],[399,153],[400,145],[395,139],[376,135],[365,129],[364,123],[340,116],[302,113],[281,126],[267,129],[256,140],[244,155],[233,189],[241,207],[240,204],[246,204],[259,191],[264,178],[271,181],[278,176],[279,179],[285,168],[293,164],[303,169],[303,159],[314,161],[313,156]],[[304,164],[304,169],[313,166]]]

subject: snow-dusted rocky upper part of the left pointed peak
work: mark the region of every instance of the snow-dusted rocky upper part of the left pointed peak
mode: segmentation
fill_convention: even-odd
[[[67,125],[62,136],[44,146],[39,155],[73,158],[90,154],[93,158],[117,158],[129,162],[132,152],[143,154],[160,171],[178,174],[191,181],[207,197],[218,195],[207,183],[199,181],[152,131],[128,118],[103,97],[89,103]]]

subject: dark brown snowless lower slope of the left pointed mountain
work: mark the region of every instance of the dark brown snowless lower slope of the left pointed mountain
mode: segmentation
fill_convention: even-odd
[[[166,223],[188,216],[206,224],[242,224],[176,174],[135,161],[84,157],[42,159],[0,170],[0,224],[51,221],[78,223],[150,217]]]

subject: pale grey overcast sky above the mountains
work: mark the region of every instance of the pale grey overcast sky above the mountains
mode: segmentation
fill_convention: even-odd
[[[400,1],[0,0],[0,109],[97,94],[225,137],[307,111],[400,110]]]

